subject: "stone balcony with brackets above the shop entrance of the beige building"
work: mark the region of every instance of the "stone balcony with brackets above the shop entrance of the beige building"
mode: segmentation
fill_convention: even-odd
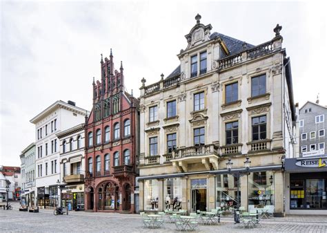
[[[172,165],[180,172],[188,171],[188,164],[202,163],[208,171],[218,169],[219,147],[203,145],[200,147],[186,147],[172,152]]]

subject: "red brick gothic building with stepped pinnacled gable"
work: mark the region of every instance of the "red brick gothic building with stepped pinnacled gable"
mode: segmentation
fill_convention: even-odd
[[[135,212],[139,101],[125,91],[123,66],[112,53],[102,59],[101,82],[93,80],[93,107],[86,121],[85,209]]]

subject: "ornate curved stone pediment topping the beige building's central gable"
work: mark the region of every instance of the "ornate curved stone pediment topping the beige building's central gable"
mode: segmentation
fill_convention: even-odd
[[[188,41],[188,47],[186,49],[210,40],[210,30],[212,29],[211,24],[208,24],[207,26],[200,24],[201,15],[199,14],[197,14],[195,19],[197,20],[197,24],[195,24],[195,26],[190,30],[190,33],[185,36]]]

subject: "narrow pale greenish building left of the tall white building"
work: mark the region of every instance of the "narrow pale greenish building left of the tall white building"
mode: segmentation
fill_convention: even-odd
[[[35,143],[21,151],[21,205],[35,206]]]

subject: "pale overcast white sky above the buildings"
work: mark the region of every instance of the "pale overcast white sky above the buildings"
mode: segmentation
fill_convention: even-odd
[[[57,100],[91,110],[92,77],[100,77],[100,54],[116,68],[123,61],[126,88],[139,96],[141,78],[157,82],[178,65],[184,35],[211,24],[250,44],[273,39],[283,26],[295,102],[327,105],[326,12],[306,1],[1,1],[0,165],[19,166],[34,142],[35,115]]]

